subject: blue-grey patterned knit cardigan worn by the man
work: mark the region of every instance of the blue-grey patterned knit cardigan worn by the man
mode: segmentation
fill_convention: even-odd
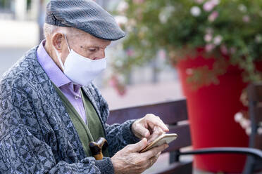
[[[113,173],[109,157],[96,161],[85,156],[36,51],[25,53],[0,81],[0,173]],[[131,131],[133,120],[109,126],[108,105],[98,89],[90,83],[84,91],[101,119],[110,156],[138,141]]]

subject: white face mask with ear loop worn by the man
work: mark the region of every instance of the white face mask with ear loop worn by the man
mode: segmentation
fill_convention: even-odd
[[[67,39],[66,44],[68,45]],[[91,81],[94,80],[94,78],[96,78],[96,76],[106,69],[106,58],[91,60],[75,53],[75,51],[70,49],[69,46],[68,50],[70,53],[68,54],[65,64],[63,65],[60,54],[56,48],[54,49],[56,51],[59,63],[63,69],[63,73],[68,77],[68,79],[73,81],[73,83],[87,86]]]

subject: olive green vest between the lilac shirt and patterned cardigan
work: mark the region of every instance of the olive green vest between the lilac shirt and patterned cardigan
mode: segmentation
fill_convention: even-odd
[[[56,85],[54,85],[54,88],[56,88],[56,92],[63,101],[63,104],[66,107],[66,112],[68,112],[68,115],[70,116],[70,119],[73,122],[73,125],[75,126],[75,129],[82,142],[82,147],[84,148],[85,154],[87,156],[92,156],[92,152],[89,149],[89,142],[96,141],[100,137],[105,138],[104,130],[101,125],[99,116],[96,113],[96,110],[94,109],[92,103],[90,102],[85,92],[82,92],[82,89],[80,89],[82,101],[85,107],[85,114],[87,119],[86,125],[85,122],[82,120],[80,114],[78,114],[73,105],[68,101],[66,96],[63,95],[60,89],[57,88]],[[105,150],[103,154],[104,156],[108,156],[107,150]]]

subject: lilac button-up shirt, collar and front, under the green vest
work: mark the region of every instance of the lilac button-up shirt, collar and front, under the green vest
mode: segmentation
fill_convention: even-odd
[[[37,48],[37,60],[44,69],[44,72],[49,76],[51,81],[62,91],[68,101],[75,107],[78,114],[85,123],[87,123],[85,108],[82,102],[80,93],[80,85],[73,84],[68,77],[63,74],[61,69],[56,65],[56,62],[50,57],[44,48],[46,41],[42,41]],[[77,67],[76,67],[77,68]]]

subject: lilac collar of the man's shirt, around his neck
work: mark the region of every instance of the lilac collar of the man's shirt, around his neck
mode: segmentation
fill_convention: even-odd
[[[81,86],[73,85],[73,82],[68,79],[68,77],[63,74],[61,69],[56,65],[54,60],[49,56],[44,48],[46,40],[42,41],[37,49],[37,60],[40,65],[43,67],[46,74],[49,76],[51,81],[60,88],[61,86],[68,85],[70,88],[73,88],[75,93],[78,93]]]

